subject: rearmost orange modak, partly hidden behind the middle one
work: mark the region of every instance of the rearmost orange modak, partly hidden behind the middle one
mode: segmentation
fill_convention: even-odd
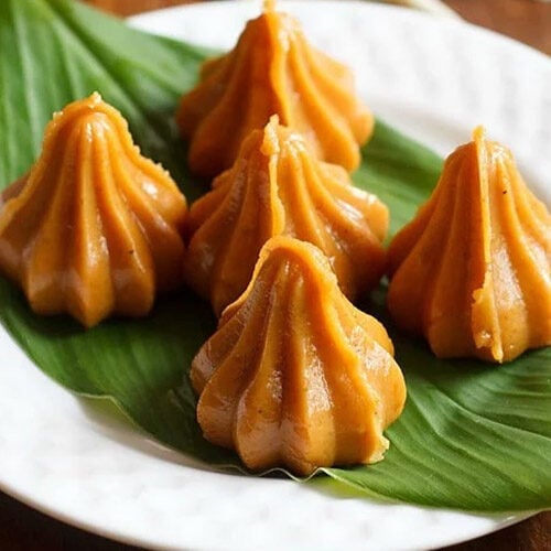
[[[241,141],[277,114],[304,133],[320,156],[355,170],[374,118],[354,93],[352,72],[313,48],[299,22],[264,2],[235,48],[207,61],[176,115],[190,140],[193,172],[215,176],[231,166]]]

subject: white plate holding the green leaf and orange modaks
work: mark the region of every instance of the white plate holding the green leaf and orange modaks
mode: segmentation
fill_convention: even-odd
[[[229,47],[259,6],[196,4],[143,14],[132,24]],[[409,10],[344,1],[284,8],[301,18],[313,43],[354,67],[378,115],[441,153],[484,122],[514,149],[550,203],[547,57]],[[421,549],[520,518],[336,498],[285,479],[209,472],[63,390],[2,327],[0,350],[0,488],[118,540],[179,549]]]

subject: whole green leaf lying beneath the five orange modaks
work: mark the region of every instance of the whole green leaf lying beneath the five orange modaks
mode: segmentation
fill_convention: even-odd
[[[36,158],[45,123],[65,104],[102,94],[128,118],[142,151],[171,170],[190,198],[204,187],[184,163],[172,114],[207,51],[151,36],[68,0],[0,4],[0,187]],[[378,121],[355,182],[391,210],[391,233],[434,186],[442,160]],[[385,289],[370,309],[385,317]],[[66,388],[114,400],[161,442],[216,465],[236,455],[203,440],[187,380],[191,359],[215,328],[209,306],[182,290],[139,321],[84,331],[35,316],[0,279],[0,318],[33,361]],[[326,468],[324,490],[437,507],[504,511],[551,506],[551,353],[506,366],[444,361],[387,322],[409,399],[388,431],[383,462]]]

